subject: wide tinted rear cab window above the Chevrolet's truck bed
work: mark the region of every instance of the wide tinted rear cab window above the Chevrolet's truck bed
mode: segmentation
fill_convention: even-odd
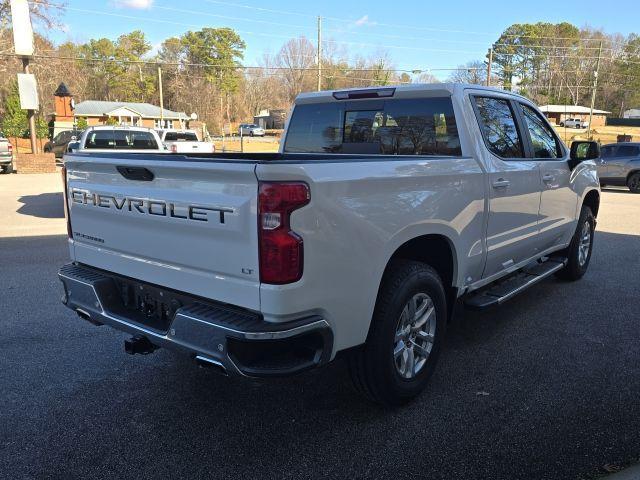
[[[296,105],[284,152],[462,155],[450,97]]]

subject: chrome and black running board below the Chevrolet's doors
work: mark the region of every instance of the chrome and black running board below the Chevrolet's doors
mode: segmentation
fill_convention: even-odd
[[[553,257],[528,265],[505,280],[499,280],[498,283],[493,283],[478,292],[470,293],[464,300],[464,306],[469,310],[484,310],[500,305],[564,268],[566,264],[566,258]]]

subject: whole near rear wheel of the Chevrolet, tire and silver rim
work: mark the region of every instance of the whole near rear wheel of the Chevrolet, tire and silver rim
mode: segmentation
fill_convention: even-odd
[[[418,395],[433,374],[446,319],[437,272],[420,262],[394,261],[383,279],[367,342],[349,361],[356,389],[387,406]]]

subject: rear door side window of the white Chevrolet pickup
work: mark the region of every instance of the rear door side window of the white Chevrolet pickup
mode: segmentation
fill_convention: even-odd
[[[480,130],[489,150],[501,158],[522,158],[524,149],[508,100],[475,97]]]

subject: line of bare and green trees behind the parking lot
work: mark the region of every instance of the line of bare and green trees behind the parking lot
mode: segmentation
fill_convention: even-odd
[[[3,3],[0,0],[0,19]],[[49,18],[46,11],[40,13]],[[515,24],[490,46],[494,86],[516,90],[540,104],[589,104],[597,66],[596,108],[616,115],[640,105],[640,37],[635,34],[607,35],[568,23]],[[0,51],[11,48],[11,30],[5,25],[0,29]],[[213,133],[222,131],[225,123],[251,120],[261,109],[288,109],[300,92],[316,89],[317,51],[309,39],[292,38],[252,66],[243,65],[245,48],[245,41],[231,28],[188,31],[167,38],[157,51],[141,30],[115,40],[59,45],[36,35],[31,68],[41,99],[38,131],[46,132],[43,124],[53,111],[52,95],[60,82],[76,101],[158,105],[158,66],[165,108],[196,112]],[[460,65],[447,80],[486,83],[488,57]],[[322,66],[322,88],[330,90],[438,81],[428,73],[397,71],[388,53],[361,57],[327,47]],[[0,56],[0,71],[4,73],[0,76],[2,127],[15,130],[23,121],[16,107],[15,73],[21,71],[20,60]]]

